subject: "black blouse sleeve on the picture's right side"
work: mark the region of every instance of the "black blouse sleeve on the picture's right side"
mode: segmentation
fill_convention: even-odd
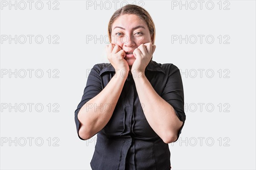
[[[180,75],[180,70],[177,66],[173,64],[169,64],[167,66],[167,81],[166,86],[163,90],[161,97],[167,101],[175,110],[177,117],[180,121],[183,121],[183,124],[180,128],[179,133],[177,134],[177,140],[180,136],[181,130],[184,126],[186,115],[184,112],[184,92],[183,92],[183,84]],[[176,141],[177,141],[176,140]]]

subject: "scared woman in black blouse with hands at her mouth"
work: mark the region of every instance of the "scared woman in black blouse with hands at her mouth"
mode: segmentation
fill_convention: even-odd
[[[93,66],[75,111],[79,138],[97,134],[96,170],[170,170],[168,143],[186,115],[183,84],[173,64],[152,60],[154,23],[145,9],[126,5],[108,25],[110,63]]]

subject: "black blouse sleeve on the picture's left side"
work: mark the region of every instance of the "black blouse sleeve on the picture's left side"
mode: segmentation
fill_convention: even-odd
[[[81,107],[84,106],[84,104],[87,103],[90,99],[94,98],[96,95],[98,95],[102,91],[102,83],[101,83],[101,77],[99,75],[100,69],[98,64],[94,65],[93,68],[90,71],[90,74],[87,78],[87,83],[84,88],[84,94],[82,96],[82,99],[80,103],[77,106],[77,109],[75,110],[75,123],[76,123],[76,131],[79,136],[79,127],[80,122],[78,120],[78,113],[81,109]],[[84,140],[79,136],[81,140]]]

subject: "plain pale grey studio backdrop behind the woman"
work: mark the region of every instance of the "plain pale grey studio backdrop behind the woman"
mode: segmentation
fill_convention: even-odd
[[[254,0],[0,2],[1,169],[90,170],[96,135],[78,138],[74,111],[127,3],[154,20],[153,60],[182,75],[172,169],[256,169]]]

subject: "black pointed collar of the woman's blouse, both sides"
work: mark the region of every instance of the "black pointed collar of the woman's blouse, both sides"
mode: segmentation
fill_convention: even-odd
[[[164,70],[160,67],[160,63],[157,63],[155,61],[150,61],[148,65],[146,66],[145,72],[151,71],[151,72],[163,72],[163,74],[166,74]],[[102,71],[99,73],[101,76],[105,72],[116,72],[114,67],[112,66],[111,63],[109,63],[107,66],[105,66]]]

